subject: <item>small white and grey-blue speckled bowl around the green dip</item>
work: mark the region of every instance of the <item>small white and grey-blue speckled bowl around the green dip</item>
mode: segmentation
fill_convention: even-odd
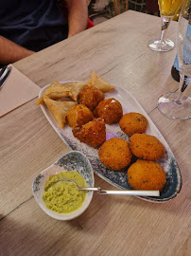
[[[58,213],[54,210],[48,209],[43,202],[43,192],[45,182],[50,175],[59,174],[64,171],[77,171],[86,181],[87,187],[95,186],[95,179],[92,166],[88,158],[78,151],[71,151],[66,155],[61,156],[54,164],[43,170],[33,181],[32,192],[39,206],[45,213],[54,219],[71,220],[78,217],[84,210],[86,210],[92,200],[93,192],[87,192],[82,206],[70,213]]]

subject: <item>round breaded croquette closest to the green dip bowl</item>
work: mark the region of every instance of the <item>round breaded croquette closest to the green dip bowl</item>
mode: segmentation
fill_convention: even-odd
[[[101,163],[114,171],[128,167],[130,158],[129,142],[123,138],[113,137],[103,143],[98,150]]]

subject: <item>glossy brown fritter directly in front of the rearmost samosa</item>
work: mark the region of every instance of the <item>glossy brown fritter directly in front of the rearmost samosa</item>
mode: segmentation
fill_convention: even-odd
[[[104,94],[94,86],[85,85],[78,94],[78,101],[93,111],[100,101],[104,100]]]

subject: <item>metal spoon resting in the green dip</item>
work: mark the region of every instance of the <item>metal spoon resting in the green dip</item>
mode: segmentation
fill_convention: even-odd
[[[90,191],[90,192],[97,192],[100,194],[127,194],[127,195],[142,195],[142,196],[160,196],[159,191],[105,191],[102,190],[101,188],[79,188],[77,183],[71,179],[58,179],[55,181],[55,183],[58,183],[60,181],[68,181],[72,182],[77,188],[78,191]]]

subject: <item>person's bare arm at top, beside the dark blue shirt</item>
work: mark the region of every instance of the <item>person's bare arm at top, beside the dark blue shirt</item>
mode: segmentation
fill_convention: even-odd
[[[68,0],[68,37],[86,29],[88,6],[86,0]]]

